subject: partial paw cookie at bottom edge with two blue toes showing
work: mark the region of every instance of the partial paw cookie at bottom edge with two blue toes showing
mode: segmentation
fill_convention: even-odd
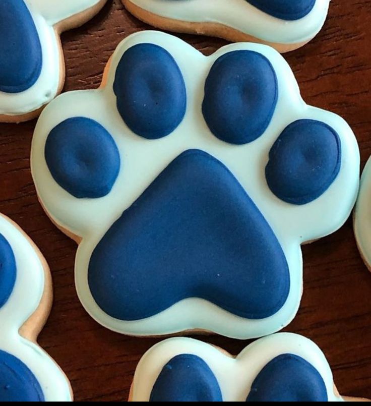
[[[343,401],[330,366],[310,339],[261,338],[237,357],[192,338],[153,346],[140,360],[130,401]],[[365,400],[365,399],[358,399]]]

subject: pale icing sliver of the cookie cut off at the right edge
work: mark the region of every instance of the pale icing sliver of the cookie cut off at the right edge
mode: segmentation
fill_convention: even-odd
[[[354,210],[354,235],[358,249],[371,267],[371,158],[363,169],[359,195]]]

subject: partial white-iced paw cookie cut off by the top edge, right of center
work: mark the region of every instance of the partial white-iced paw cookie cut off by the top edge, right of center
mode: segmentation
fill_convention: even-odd
[[[122,0],[160,29],[253,41],[287,52],[321,30],[330,0]]]

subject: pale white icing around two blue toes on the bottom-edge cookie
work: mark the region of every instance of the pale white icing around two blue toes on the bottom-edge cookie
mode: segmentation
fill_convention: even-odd
[[[153,385],[163,367],[180,354],[202,358],[214,373],[223,401],[244,402],[254,379],[275,357],[293,354],[312,364],[322,376],[329,401],[343,401],[334,393],[330,366],[319,347],[310,339],[292,333],[278,333],[261,338],[236,357],[225,355],[216,347],[192,338],[169,338],[154,345],[140,360],[134,380],[132,401],[149,401]]]

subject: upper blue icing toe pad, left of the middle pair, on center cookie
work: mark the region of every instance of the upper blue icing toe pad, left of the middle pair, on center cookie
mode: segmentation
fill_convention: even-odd
[[[122,55],[113,91],[122,120],[144,138],[164,137],[183,120],[184,80],[173,57],[158,45],[138,44]]]

